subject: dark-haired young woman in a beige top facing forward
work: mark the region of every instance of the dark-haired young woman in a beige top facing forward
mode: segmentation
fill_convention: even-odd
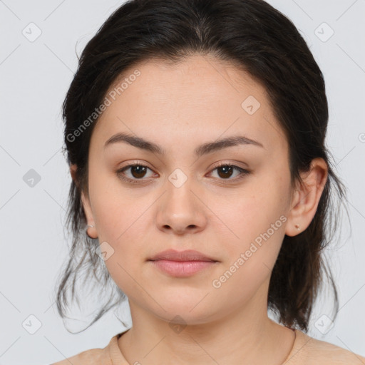
[[[344,188],[323,75],[289,19],[261,0],[128,1],[84,49],[63,117],[58,311],[86,265],[118,287],[93,323],[128,299],[133,326],[56,364],[365,364],[305,333]]]

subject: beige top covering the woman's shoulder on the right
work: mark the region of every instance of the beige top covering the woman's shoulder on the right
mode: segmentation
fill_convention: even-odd
[[[365,365],[365,357],[347,349],[314,339],[297,329],[296,340],[285,365]]]

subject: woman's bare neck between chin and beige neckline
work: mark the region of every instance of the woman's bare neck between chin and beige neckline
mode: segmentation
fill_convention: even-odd
[[[267,317],[264,299],[258,295],[224,317],[196,324],[168,322],[130,302],[133,327],[118,340],[120,351],[130,364],[281,365],[295,334]]]

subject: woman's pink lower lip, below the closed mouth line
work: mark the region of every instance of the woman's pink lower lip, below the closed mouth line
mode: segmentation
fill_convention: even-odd
[[[152,262],[158,269],[173,277],[190,277],[216,263],[215,261],[172,261],[169,259],[159,259]]]

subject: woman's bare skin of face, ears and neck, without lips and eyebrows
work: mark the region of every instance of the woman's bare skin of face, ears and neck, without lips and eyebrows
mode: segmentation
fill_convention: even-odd
[[[130,364],[282,364],[294,332],[267,317],[271,270],[284,235],[297,235],[312,221],[327,164],[314,159],[304,184],[292,188],[287,140],[264,88],[227,61],[200,55],[175,65],[149,60],[123,77],[135,69],[140,76],[93,130],[89,190],[82,194],[88,225],[95,225],[88,235],[113,247],[106,267],[130,304],[133,327],[120,337],[120,351]],[[260,103],[252,115],[241,106],[248,96]],[[104,148],[118,132],[153,141],[167,154],[127,143]],[[202,143],[232,135],[264,148],[237,145],[194,155]],[[129,178],[144,179],[126,183],[116,170],[135,160],[150,170],[125,170]],[[238,180],[233,170],[225,178],[213,165],[218,162],[250,174]],[[177,168],[187,178],[181,187],[168,180]],[[287,219],[281,227],[221,287],[213,287],[282,215]],[[170,277],[147,261],[168,248],[198,250],[218,262],[191,277]]]

